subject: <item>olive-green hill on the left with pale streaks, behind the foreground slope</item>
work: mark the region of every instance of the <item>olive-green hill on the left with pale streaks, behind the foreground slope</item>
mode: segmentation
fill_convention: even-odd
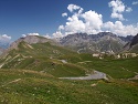
[[[63,59],[71,55],[74,59],[79,58],[77,53],[49,42],[31,45],[21,42],[17,50],[11,50],[0,62],[1,69],[26,69],[47,72],[55,76],[85,75],[83,66],[67,62],[70,59]]]

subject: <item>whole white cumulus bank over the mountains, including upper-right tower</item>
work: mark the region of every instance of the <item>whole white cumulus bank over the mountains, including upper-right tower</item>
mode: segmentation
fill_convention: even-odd
[[[138,33],[138,24],[124,24],[123,12],[132,11],[131,8],[120,1],[113,0],[109,3],[109,7],[113,8],[113,18],[118,18],[118,21],[112,22],[103,21],[103,14],[94,11],[83,11],[84,9],[76,4],[68,4],[67,9],[72,13],[71,17],[67,17],[65,24],[59,27],[57,31],[53,33],[53,38],[63,38],[72,33],[87,33],[95,34],[102,31],[110,31],[117,35],[136,35]],[[81,11],[81,12],[79,12]]]

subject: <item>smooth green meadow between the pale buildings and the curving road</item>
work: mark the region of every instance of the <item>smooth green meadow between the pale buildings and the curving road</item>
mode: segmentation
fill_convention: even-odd
[[[92,60],[92,62],[76,63],[86,69],[105,72],[114,79],[128,79],[138,73],[138,58],[120,60]]]

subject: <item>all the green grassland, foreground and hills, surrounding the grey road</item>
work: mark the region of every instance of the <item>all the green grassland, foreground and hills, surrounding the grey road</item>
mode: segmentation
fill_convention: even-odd
[[[21,42],[0,59],[0,104],[138,104],[138,58],[96,59],[47,43]],[[109,81],[70,81],[94,70]]]

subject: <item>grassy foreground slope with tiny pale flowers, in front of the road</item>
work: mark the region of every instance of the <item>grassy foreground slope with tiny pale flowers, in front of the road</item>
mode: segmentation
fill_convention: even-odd
[[[126,81],[67,81],[36,71],[1,70],[0,82],[1,104],[138,103],[138,84]]]

